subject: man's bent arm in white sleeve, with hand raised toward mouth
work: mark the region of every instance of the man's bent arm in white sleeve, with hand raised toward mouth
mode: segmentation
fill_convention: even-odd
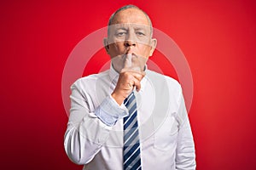
[[[133,89],[133,86],[127,87],[128,82],[131,81],[134,83],[131,85],[139,89],[142,78],[143,74],[135,71],[122,72],[113,94],[103,99],[96,109],[84,86],[79,82],[73,84],[71,110],[64,139],[67,156],[73,162],[86,164],[102,149],[115,122],[129,115],[123,104],[123,100]]]

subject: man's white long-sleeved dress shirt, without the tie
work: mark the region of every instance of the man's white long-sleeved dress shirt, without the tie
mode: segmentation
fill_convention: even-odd
[[[142,169],[195,169],[195,146],[182,89],[171,77],[146,70],[137,99]],[[67,156],[86,170],[123,169],[125,105],[111,97],[113,70],[74,82],[65,133]]]

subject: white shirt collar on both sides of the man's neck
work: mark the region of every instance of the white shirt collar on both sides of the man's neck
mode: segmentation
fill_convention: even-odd
[[[147,77],[148,66],[147,65],[145,65],[145,72],[146,72],[146,75],[145,75],[145,77],[143,77],[143,80],[141,81],[141,90],[139,92],[143,92],[143,89],[145,88],[146,83],[147,83],[147,79],[148,79],[148,77]],[[110,77],[111,83],[113,83],[113,85],[116,85],[116,83],[119,80],[119,72],[114,70],[112,62],[110,62],[109,77]]]

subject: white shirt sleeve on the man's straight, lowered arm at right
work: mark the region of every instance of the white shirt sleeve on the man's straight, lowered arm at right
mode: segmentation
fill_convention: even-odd
[[[195,170],[195,144],[183,95],[181,95],[177,111],[177,122],[179,123],[179,131],[177,134],[176,169]]]

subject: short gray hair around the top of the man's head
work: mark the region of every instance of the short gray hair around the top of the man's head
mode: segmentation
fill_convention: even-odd
[[[109,18],[109,20],[108,20],[108,36],[109,36],[109,32],[110,32],[110,31],[109,31],[109,27],[112,25],[113,18],[114,18],[114,16],[115,16],[115,14],[118,14],[120,11],[125,10],[125,9],[127,9],[127,8],[137,8],[138,10],[142,11],[143,14],[145,14],[145,16],[146,16],[147,19],[148,19],[149,26],[150,26],[150,36],[152,37],[152,36],[153,36],[153,26],[152,26],[152,22],[151,22],[151,20],[150,20],[150,18],[149,18],[149,16],[148,16],[148,14],[145,13],[145,12],[143,11],[143,9],[138,8],[137,6],[131,5],[131,4],[130,4],[130,5],[125,5],[124,7],[121,7],[121,8],[119,8],[119,9],[117,9],[117,10],[110,16],[110,18]]]

